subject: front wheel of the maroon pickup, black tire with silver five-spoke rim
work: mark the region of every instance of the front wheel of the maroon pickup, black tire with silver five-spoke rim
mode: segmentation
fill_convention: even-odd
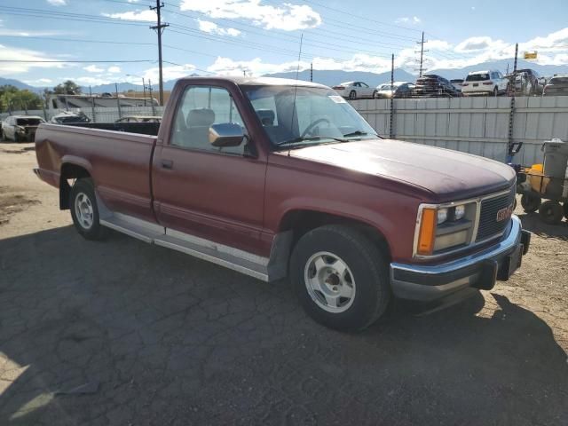
[[[325,225],[306,233],[292,252],[289,276],[304,311],[335,330],[370,326],[390,302],[386,256],[348,226]]]

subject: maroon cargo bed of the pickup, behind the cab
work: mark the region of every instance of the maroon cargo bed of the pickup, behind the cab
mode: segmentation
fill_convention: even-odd
[[[150,131],[147,124],[154,124],[157,134],[159,124],[80,124],[40,125],[36,133],[40,177],[59,187],[62,168],[79,166],[88,170],[99,196],[110,209],[133,211],[138,217],[154,221],[150,178],[156,136],[146,132]]]

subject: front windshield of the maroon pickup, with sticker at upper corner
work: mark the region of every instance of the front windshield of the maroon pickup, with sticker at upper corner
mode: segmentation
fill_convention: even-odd
[[[275,147],[377,138],[335,91],[303,86],[248,86],[244,91]]]

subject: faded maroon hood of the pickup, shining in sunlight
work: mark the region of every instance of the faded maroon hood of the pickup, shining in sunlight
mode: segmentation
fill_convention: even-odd
[[[395,139],[308,146],[291,150],[290,156],[406,182],[430,192],[432,201],[497,192],[515,181],[515,171],[501,162]]]

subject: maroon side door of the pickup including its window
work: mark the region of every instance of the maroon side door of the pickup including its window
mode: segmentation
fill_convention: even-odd
[[[185,87],[170,137],[156,146],[154,210],[167,228],[258,253],[266,162],[245,154],[247,138],[241,146],[212,146],[209,127],[225,122],[248,134],[227,89]]]

